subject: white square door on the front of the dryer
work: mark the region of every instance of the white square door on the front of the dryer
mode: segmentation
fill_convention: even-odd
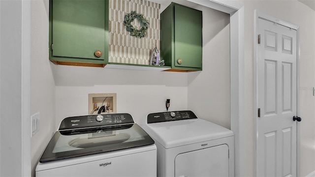
[[[228,177],[228,146],[182,153],[175,158],[175,177]]]

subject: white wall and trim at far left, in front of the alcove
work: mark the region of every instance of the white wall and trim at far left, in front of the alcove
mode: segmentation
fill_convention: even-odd
[[[0,1],[0,176],[29,176],[29,1]]]

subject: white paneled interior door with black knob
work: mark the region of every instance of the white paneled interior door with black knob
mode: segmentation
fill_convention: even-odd
[[[259,18],[258,34],[256,173],[258,177],[295,177],[297,31]]]

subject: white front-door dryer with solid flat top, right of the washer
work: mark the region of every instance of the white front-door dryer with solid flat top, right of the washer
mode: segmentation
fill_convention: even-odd
[[[152,113],[142,125],[158,149],[158,177],[234,177],[234,134],[191,111]]]

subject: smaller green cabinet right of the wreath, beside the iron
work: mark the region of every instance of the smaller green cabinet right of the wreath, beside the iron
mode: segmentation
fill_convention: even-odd
[[[202,11],[172,2],[161,13],[160,38],[169,71],[202,70]]]

